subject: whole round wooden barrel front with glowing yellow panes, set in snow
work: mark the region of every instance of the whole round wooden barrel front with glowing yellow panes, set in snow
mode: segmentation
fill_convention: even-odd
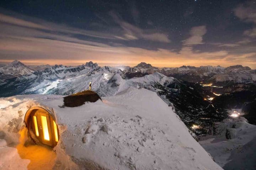
[[[59,130],[55,118],[46,109],[32,107],[25,115],[28,134],[36,144],[54,147],[59,141]]]

